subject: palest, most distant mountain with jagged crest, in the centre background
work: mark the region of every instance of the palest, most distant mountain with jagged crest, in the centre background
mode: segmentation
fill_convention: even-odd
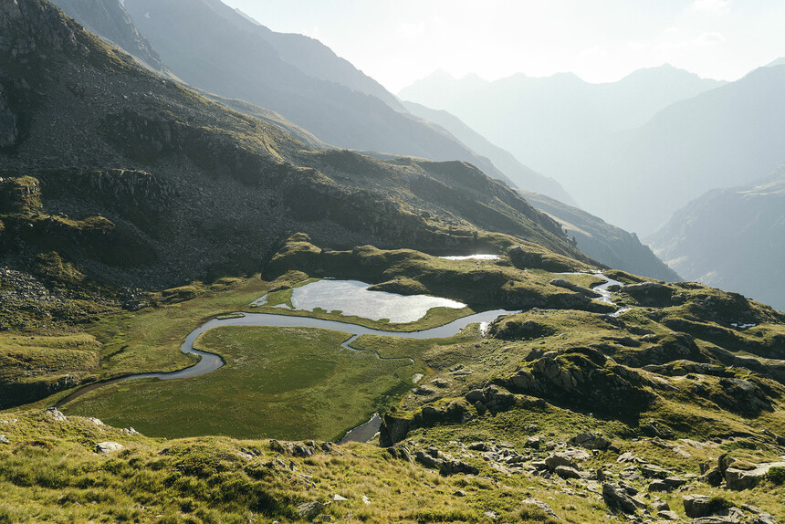
[[[587,178],[586,159],[597,156],[606,138],[720,85],[668,65],[604,84],[571,73],[547,78],[516,74],[487,82],[474,75],[456,80],[437,71],[399,96],[450,111],[535,171],[558,180],[580,204],[588,204],[592,196],[582,196],[581,183]]]

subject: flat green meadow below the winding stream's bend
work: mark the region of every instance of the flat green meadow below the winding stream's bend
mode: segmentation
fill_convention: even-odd
[[[397,402],[411,387],[413,373],[424,371],[408,359],[342,348],[349,336],[301,328],[216,328],[196,347],[220,354],[223,368],[193,379],[111,385],[63,409],[132,425],[145,435],[337,439]]]

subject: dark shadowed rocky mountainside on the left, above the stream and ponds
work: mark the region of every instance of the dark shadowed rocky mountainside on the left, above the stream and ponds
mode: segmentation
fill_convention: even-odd
[[[518,236],[585,259],[474,166],[309,149],[138,67],[47,2],[2,6],[6,265],[56,251],[94,278],[172,285],[261,267],[294,228],[443,251]]]

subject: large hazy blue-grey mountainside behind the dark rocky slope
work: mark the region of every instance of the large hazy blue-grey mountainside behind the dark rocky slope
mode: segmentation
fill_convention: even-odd
[[[463,160],[508,182],[449,133],[393,109],[393,95],[309,38],[275,34],[217,0],[124,7],[167,67],[198,89],[273,110],[333,146]]]

